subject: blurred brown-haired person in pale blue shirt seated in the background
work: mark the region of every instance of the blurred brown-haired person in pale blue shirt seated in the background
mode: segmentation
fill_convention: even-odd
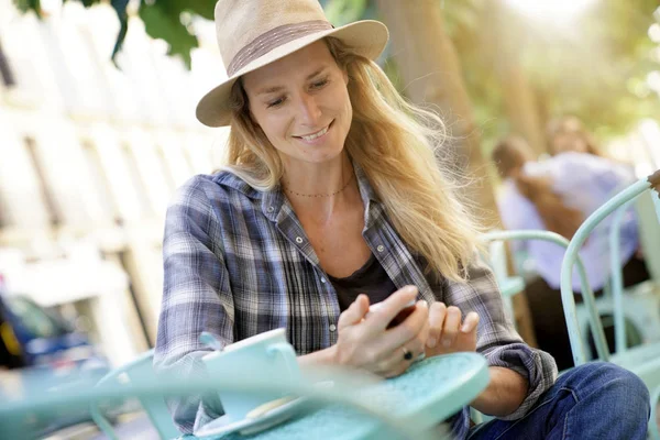
[[[581,153],[563,152],[543,162],[534,158],[531,147],[521,138],[509,136],[495,146],[492,158],[504,179],[498,209],[505,229],[548,230],[570,240],[584,219],[635,182],[626,165],[587,153],[584,145]],[[602,295],[609,278],[608,235],[609,221],[605,220],[580,251],[596,296]],[[560,370],[571,367],[573,356],[560,293],[564,249],[539,240],[516,241],[512,245],[515,253],[524,253],[534,263],[539,275],[526,287],[539,348],[554,356]],[[620,224],[625,286],[649,278],[644,261],[636,255],[638,246],[637,218],[630,208]],[[576,272],[573,290],[582,290]],[[581,301],[582,297],[578,295],[575,300]],[[614,336],[607,333],[613,349]]]

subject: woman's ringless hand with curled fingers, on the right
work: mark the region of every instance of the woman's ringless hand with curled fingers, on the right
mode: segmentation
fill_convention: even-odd
[[[471,311],[464,321],[461,318],[461,309],[458,307],[447,307],[443,302],[431,305],[430,330],[426,344],[427,356],[476,350],[479,315]]]

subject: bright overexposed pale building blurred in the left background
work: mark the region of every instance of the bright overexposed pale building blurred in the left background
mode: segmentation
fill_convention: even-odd
[[[118,69],[109,6],[42,4],[0,0],[0,273],[121,364],[155,341],[166,206],[213,169],[227,133],[195,105],[224,69],[212,23],[187,70],[132,18]]]

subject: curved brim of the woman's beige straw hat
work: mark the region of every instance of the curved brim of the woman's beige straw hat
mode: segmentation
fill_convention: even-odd
[[[208,127],[229,125],[231,121],[231,109],[229,107],[231,88],[242,75],[256,70],[327,36],[341,40],[359,55],[376,59],[387,44],[388,32],[385,24],[380,21],[362,20],[341,28],[315,32],[277,46],[267,54],[249,63],[218,87],[206,94],[197,105],[197,119]]]

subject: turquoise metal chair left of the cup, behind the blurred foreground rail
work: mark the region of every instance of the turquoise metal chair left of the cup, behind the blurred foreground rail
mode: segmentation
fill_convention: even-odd
[[[150,350],[141,354],[134,361],[116,369],[108,373],[96,385],[99,388],[114,386],[114,387],[130,387],[136,381],[154,375],[153,370],[154,351]],[[147,415],[150,421],[158,432],[162,439],[172,439],[180,436],[180,432],[172,421],[172,416],[167,410],[165,400],[161,396],[144,395],[139,397],[140,404]],[[112,424],[102,414],[98,403],[95,403],[90,407],[91,418],[97,424],[99,429],[108,436],[111,440],[119,440],[117,432],[114,431]]]

